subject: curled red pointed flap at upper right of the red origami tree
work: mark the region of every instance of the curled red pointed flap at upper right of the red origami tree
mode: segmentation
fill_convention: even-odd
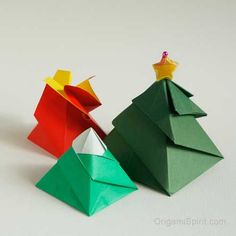
[[[64,92],[67,98],[86,114],[101,105],[95,97],[79,87],[66,85]]]

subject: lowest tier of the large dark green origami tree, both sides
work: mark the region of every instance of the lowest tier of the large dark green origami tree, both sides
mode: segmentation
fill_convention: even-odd
[[[184,149],[179,150],[170,145],[168,147],[170,155],[163,157],[159,167],[156,166],[161,174],[165,176],[169,174],[169,184],[167,183],[164,187],[115,130],[106,137],[105,142],[132,180],[167,195],[174,194],[221,160],[219,157]],[[166,165],[162,166],[167,159],[169,170],[164,168]]]

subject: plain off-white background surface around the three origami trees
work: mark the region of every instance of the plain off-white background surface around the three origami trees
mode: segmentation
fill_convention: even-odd
[[[235,11],[234,0],[0,0],[0,235],[235,235]],[[164,49],[225,159],[171,198],[140,186],[91,218],[35,188],[56,161],[26,140],[44,77],[96,74],[103,106],[93,116],[110,131],[155,81]],[[158,224],[186,218],[224,223]]]

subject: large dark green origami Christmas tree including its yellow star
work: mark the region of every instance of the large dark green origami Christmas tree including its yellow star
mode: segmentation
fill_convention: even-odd
[[[197,122],[206,116],[171,81],[176,62],[163,53],[157,80],[114,120],[105,143],[131,179],[171,195],[223,157]]]

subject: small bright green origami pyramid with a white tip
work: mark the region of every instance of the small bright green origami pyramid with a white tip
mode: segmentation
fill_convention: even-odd
[[[137,190],[92,128],[36,186],[89,216]]]

